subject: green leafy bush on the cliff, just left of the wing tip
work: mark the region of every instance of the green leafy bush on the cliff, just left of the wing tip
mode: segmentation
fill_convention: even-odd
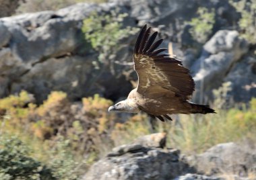
[[[122,21],[127,16],[126,13],[117,14],[110,11],[110,14],[98,15],[92,13],[90,17],[84,19],[84,38],[90,42],[92,48],[99,52],[98,60],[94,61],[96,68],[110,66],[113,68],[113,60],[117,52],[122,48],[119,42],[131,34],[137,32],[137,28],[122,28]],[[103,64],[103,65],[102,65]]]

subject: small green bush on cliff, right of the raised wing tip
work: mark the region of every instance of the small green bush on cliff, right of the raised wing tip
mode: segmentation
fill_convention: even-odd
[[[189,30],[191,36],[197,42],[203,44],[212,34],[212,28],[215,24],[214,9],[199,7],[197,10],[198,17],[194,17],[188,22],[192,27]]]

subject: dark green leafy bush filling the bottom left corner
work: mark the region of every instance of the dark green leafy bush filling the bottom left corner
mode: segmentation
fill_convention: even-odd
[[[0,137],[0,179],[56,179],[51,169],[30,156],[15,136]]]

